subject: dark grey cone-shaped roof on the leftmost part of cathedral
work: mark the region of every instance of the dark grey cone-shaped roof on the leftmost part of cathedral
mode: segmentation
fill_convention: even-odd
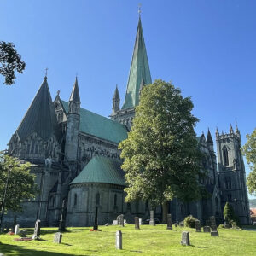
[[[38,136],[44,140],[52,135],[55,135],[56,139],[60,139],[59,126],[46,77],[37,95],[34,97],[31,106],[26,111],[25,117],[22,119],[17,132],[21,141],[30,136],[32,132],[37,132]]]

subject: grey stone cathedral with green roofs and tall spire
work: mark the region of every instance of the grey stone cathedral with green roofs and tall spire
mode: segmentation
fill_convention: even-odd
[[[131,130],[140,90],[151,84],[148,56],[143,38],[141,18],[131,59],[125,100],[120,108],[119,90],[115,88],[112,113],[109,118],[81,107],[76,78],[69,100],[55,100],[49,93],[47,77],[9,141],[9,154],[32,163],[36,175],[38,195],[23,203],[23,212],[9,212],[6,219],[23,226],[32,226],[36,219],[44,226],[59,224],[65,209],[67,226],[91,226],[96,208],[98,223],[112,223],[124,214],[128,223],[134,217],[148,218],[154,210],[161,218],[161,207],[152,208],[148,201],[125,202],[125,177],[118,144]],[[210,131],[207,137],[197,137],[203,153],[201,168],[207,169],[207,178],[199,180],[208,196],[201,201],[185,203],[173,200],[168,211],[173,221],[182,221],[188,215],[201,220],[216,216],[224,221],[223,209],[228,201],[234,207],[241,224],[249,224],[249,206],[245,167],[241,156],[241,136],[236,125],[228,133],[216,131],[214,152]]]

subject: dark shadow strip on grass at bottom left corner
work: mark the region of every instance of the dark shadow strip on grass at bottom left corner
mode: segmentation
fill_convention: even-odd
[[[32,250],[27,249],[23,246],[15,246],[15,245],[9,245],[5,243],[0,243],[1,245],[1,253],[16,253],[17,255],[26,255],[26,256],[61,256],[61,255],[73,255],[68,253],[53,253],[53,252],[46,252],[46,251],[39,251],[39,250]],[[85,254],[83,254],[85,255]],[[79,255],[79,256],[82,256]],[[86,255],[85,255],[86,256]]]

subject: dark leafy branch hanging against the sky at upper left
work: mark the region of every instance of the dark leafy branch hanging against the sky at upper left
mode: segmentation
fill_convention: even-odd
[[[21,61],[13,43],[0,41],[0,74],[5,78],[4,84],[15,84],[15,70],[23,73],[26,64]]]

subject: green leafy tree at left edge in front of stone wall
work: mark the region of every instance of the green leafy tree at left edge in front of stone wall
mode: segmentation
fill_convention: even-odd
[[[21,203],[30,200],[37,194],[34,183],[35,175],[30,173],[30,163],[20,163],[14,157],[0,153],[0,208],[3,204],[3,192],[8,177],[9,166],[12,166],[9,175],[9,185],[5,198],[5,211],[22,211]]]

